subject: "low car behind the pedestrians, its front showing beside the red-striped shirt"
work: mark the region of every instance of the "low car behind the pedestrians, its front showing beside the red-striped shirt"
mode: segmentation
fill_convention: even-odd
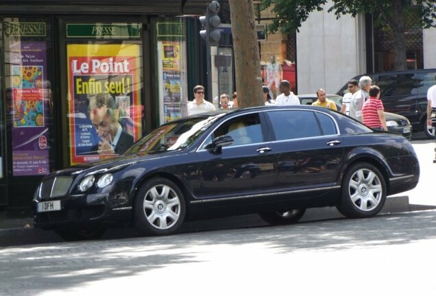
[[[311,105],[314,101],[317,100],[317,95],[316,94],[298,95],[298,98],[300,99],[300,103],[302,105]],[[336,103],[337,110],[338,111],[341,110],[342,97],[340,95],[328,94],[327,99],[334,101]],[[409,122],[409,119],[407,119],[405,116],[393,114],[391,112],[385,112],[385,119],[386,119],[387,130],[389,130],[389,132],[396,132],[398,134],[402,134],[405,138],[411,140],[413,129],[412,129],[412,125]]]

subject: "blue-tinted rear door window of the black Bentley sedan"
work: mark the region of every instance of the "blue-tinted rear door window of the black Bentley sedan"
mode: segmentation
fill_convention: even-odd
[[[315,113],[306,110],[277,110],[268,112],[276,140],[291,140],[320,136]]]

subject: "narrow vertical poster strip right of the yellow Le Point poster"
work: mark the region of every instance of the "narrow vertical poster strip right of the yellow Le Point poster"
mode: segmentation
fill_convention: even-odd
[[[164,122],[182,118],[180,41],[161,42]]]

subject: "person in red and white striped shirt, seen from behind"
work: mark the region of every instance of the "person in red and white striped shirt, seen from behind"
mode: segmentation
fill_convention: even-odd
[[[363,103],[362,122],[374,130],[387,131],[385,108],[383,108],[383,102],[380,100],[380,88],[371,86],[369,95],[369,99]]]

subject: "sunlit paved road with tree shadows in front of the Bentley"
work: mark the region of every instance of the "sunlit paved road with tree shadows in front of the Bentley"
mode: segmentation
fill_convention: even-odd
[[[0,295],[435,295],[436,210],[0,249]]]

